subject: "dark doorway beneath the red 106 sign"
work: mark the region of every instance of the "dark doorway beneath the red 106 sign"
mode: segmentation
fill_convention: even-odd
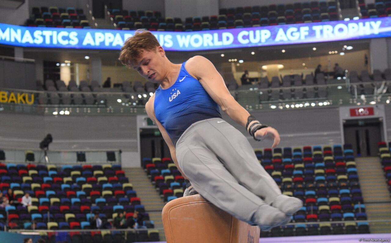
[[[377,143],[382,141],[379,118],[344,120],[345,143],[352,144],[355,156],[377,156]]]

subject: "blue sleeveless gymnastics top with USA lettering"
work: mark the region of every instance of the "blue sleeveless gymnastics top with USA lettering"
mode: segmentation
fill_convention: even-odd
[[[174,146],[183,132],[193,123],[209,118],[221,118],[220,107],[192,77],[182,63],[178,79],[168,89],[155,91],[156,119],[166,129]]]

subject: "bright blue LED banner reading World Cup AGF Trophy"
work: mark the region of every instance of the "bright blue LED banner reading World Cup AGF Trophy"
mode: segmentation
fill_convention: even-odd
[[[134,30],[24,27],[0,23],[0,44],[39,48],[119,50]],[[391,37],[391,17],[194,32],[154,31],[167,51]]]

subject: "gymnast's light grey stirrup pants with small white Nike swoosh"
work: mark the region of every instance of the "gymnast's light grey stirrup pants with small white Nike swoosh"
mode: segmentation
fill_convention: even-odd
[[[247,138],[221,118],[193,123],[179,138],[176,157],[198,193],[242,221],[256,223],[259,207],[281,194]]]

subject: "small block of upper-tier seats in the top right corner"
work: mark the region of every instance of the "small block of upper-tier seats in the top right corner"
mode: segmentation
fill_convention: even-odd
[[[391,1],[377,0],[371,4],[365,4],[365,0],[359,0],[361,18],[378,18],[391,16]]]

